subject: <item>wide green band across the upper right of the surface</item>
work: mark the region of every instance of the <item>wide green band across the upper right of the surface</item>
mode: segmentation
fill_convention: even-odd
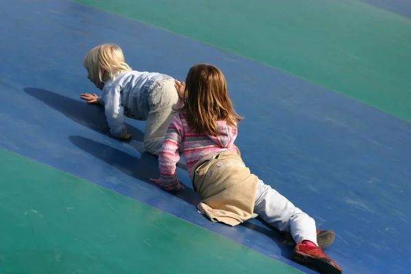
[[[238,53],[411,121],[411,20],[356,0],[74,0]]]

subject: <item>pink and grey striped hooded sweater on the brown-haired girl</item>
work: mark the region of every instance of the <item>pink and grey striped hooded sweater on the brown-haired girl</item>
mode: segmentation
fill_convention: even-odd
[[[183,150],[186,158],[187,171],[191,175],[192,168],[201,158],[211,153],[232,151],[237,153],[234,140],[237,138],[237,128],[227,125],[225,121],[217,121],[219,136],[205,133],[190,132],[187,114],[183,110],[175,114],[167,130],[162,148],[159,152],[160,185],[166,190],[179,190],[177,179],[177,162],[179,151]]]

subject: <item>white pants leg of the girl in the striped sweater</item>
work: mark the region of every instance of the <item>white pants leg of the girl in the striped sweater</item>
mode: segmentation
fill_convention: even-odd
[[[254,213],[276,229],[290,232],[297,244],[302,240],[310,240],[318,245],[314,219],[261,180],[258,181]]]

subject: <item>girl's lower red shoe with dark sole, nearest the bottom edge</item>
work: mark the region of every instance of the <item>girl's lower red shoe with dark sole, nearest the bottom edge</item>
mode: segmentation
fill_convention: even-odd
[[[313,244],[314,245],[314,244]],[[343,269],[329,258],[320,247],[306,245],[300,242],[294,249],[292,260],[299,264],[307,264],[321,274],[342,274]]]

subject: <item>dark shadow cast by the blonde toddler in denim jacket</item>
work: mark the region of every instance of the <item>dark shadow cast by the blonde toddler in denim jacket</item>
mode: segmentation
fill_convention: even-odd
[[[90,105],[86,101],[71,99],[64,95],[40,88],[24,88],[24,91],[28,95],[49,105],[49,107],[58,110],[76,123],[110,136],[104,108],[102,108],[101,105]],[[132,134],[134,140],[143,140],[144,134],[140,129],[127,123],[125,123],[125,126],[127,127],[127,132]]]

